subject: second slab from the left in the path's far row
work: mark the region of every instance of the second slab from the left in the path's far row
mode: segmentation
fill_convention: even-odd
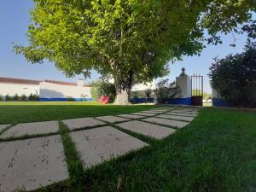
[[[106,124],[105,122],[93,118],[66,119],[62,120],[62,122],[66,124],[71,131],[74,129]]]

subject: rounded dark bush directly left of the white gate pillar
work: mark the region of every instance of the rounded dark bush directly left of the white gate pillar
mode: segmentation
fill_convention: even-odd
[[[158,103],[167,103],[170,99],[180,96],[181,90],[175,82],[169,83],[168,79],[161,80],[156,84],[154,95]]]

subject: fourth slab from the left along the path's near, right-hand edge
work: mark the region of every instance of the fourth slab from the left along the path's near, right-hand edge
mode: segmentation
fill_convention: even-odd
[[[160,124],[160,125],[168,125],[168,126],[177,127],[177,128],[183,128],[183,126],[189,125],[189,122],[177,121],[177,120],[171,120],[171,119],[160,119],[160,118],[154,118],[154,117],[143,119],[143,121]]]

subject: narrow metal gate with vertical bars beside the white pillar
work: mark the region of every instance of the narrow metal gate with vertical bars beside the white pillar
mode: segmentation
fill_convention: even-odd
[[[191,76],[191,104],[195,106],[202,106],[203,100],[203,76]]]

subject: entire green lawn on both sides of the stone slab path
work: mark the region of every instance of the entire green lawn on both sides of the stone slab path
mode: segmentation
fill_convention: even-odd
[[[154,108],[57,104],[0,105],[0,122],[66,119]],[[39,189],[40,192],[115,192],[119,178],[121,190],[117,192],[256,191],[255,112],[203,108],[191,124],[173,135],[85,172],[67,127],[60,126],[71,180]]]

